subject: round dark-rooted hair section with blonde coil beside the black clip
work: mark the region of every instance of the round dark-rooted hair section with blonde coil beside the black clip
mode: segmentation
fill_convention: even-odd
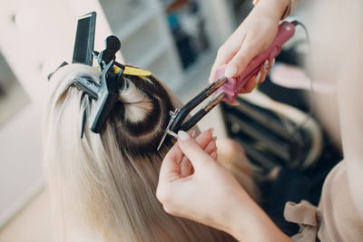
[[[155,152],[174,110],[171,97],[152,75],[123,75],[119,91],[120,102],[109,119],[116,140],[128,151]]]

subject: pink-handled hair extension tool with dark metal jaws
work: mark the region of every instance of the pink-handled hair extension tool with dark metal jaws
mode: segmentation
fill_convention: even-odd
[[[295,25],[295,22],[282,22],[279,25],[278,34],[272,41],[272,44],[270,44],[270,47],[253,58],[240,76],[227,78],[224,76],[226,65],[222,65],[218,68],[215,73],[216,82],[211,83],[209,87],[200,92],[190,102],[186,103],[181,110],[177,109],[175,111],[171,111],[171,120],[162,135],[162,140],[160,141],[158,150],[162,146],[162,142],[165,140],[167,134],[177,137],[176,132],[190,130],[192,126],[194,126],[198,121],[201,121],[201,119],[221,101],[230,103],[235,101],[246,82],[260,71],[260,66],[265,63],[266,60],[271,61],[279,55],[282,45],[295,34]],[[194,108],[212,94],[213,98],[211,101],[201,108],[200,111],[191,116],[188,121],[184,122],[188,114],[190,114]]]

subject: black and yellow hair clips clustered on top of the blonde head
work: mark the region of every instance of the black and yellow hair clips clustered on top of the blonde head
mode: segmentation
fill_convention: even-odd
[[[105,40],[105,49],[101,52],[93,51],[95,34],[96,13],[92,12],[79,17],[77,32],[74,41],[74,55],[72,63],[83,63],[92,66],[93,55],[101,71],[100,83],[88,78],[77,79],[72,86],[83,92],[85,100],[81,124],[81,139],[83,138],[84,125],[88,117],[89,128],[95,133],[100,133],[107,118],[119,98],[119,85],[123,85],[122,74],[149,76],[152,73],[131,66],[117,63],[116,53],[120,50],[121,43],[116,36],[108,36]],[[54,73],[68,63],[62,63]],[[54,73],[48,75],[48,80]],[[87,95],[87,97],[85,97]],[[91,109],[89,108],[90,103]],[[87,113],[90,110],[91,113]]]

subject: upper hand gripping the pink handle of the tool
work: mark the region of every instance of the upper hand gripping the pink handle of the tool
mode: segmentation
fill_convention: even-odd
[[[211,68],[209,82],[215,81],[215,71],[222,64],[227,64],[226,77],[236,77],[244,71],[255,56],[265,51],[276,37],[280,17],[286,5],[288,5],[286,0],[260,1],[221,45]],[[252,76],[240,93],[251,92],[255,85],[263,82],[274,63],[274,59],[263,63],[260,73]]]

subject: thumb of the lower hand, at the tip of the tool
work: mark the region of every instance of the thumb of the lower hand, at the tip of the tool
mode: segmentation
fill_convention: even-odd
[[[185,131],[179,131],[179,147],[181,148],[184,155],[191,160],[191,164],[194,169],[198,169],[208,160],[212,160],[211,156],[207,154],[198,143],[191,139],[188,133]]]

